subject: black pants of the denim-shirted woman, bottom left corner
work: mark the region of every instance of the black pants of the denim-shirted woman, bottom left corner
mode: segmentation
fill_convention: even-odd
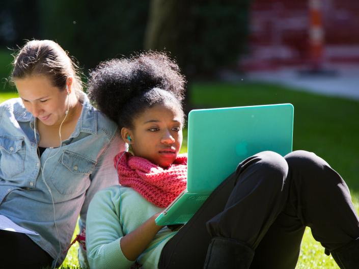
[[[0,230],[0,269],[50,268],[52,261],[52,257],[26,234]]]

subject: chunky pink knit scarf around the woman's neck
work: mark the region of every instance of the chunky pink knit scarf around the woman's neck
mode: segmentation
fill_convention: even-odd
[[[115,168],[122,153],[115,156]],[[167,207],[186,188],[187,155],[179,154],[172,165],[163,169],[126,152],[118,162],[117,173],[122,186],[131,187],[158,207]]]

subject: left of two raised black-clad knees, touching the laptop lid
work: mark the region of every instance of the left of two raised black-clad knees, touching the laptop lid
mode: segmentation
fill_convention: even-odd
[[[264,179],[273,187],[273,184],[283,188],[288,174],[288,164],[280,154],[273,151],[263,151],[258,154],[261,158],[259,166],[263,172]]]

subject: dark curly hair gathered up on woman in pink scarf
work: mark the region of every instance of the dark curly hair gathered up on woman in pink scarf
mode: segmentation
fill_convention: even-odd
[[[183,115],[185,84],[178,65],[167,55],[144,52],[100,63],[90,73],[88,93],[120,129],[133,128],[133,119],[156,104],[174,105]]]

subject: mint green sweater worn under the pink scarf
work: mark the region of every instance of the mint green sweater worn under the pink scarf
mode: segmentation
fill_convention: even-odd
[[[129,268],[120,247],[121,237],[135,230],[155,213],[162,211],[129,187],[111,186],[92,199],[86,221],[87,257],[91,268]],[[143,268],[157,268],[162,248],[175,235],[161,229],[137,258]]]

